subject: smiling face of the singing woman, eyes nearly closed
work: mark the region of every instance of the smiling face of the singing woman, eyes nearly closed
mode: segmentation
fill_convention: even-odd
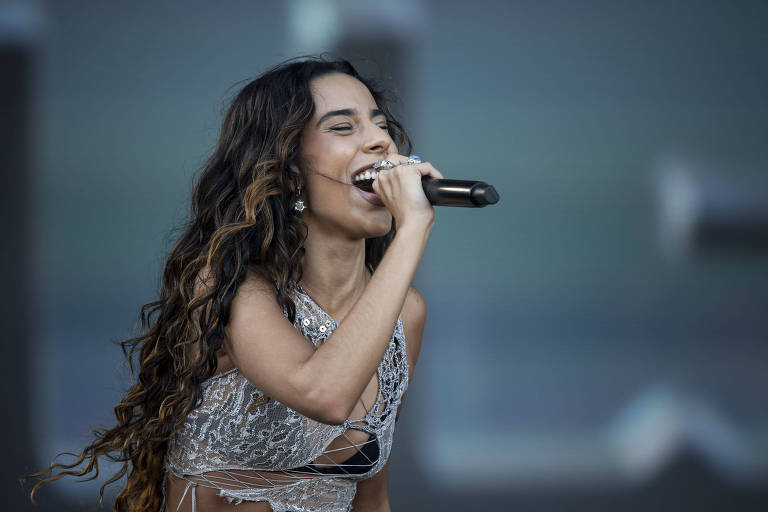
[[[392,225],[389,210],[351,184],[355,171],[397,152],[384,113],[368,88],[349,75],[323,75],[310,87],[315,113],[301,138],[309,167],[304,169],[307,209],[302,217],[310,231],[338,232],[355,240],[386,235]]]

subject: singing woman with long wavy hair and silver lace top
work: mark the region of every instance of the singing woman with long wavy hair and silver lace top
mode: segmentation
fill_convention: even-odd
[[[403,144],[346,61],[289,61],[246,85],[161,297],[124,342],[140,368],[117,426],[33,496],[107,455],[123,466],[105,485],[128,475],[118,511],[389,510],[426,314],[410,286],[434,222],[421,178],[442,177]]]

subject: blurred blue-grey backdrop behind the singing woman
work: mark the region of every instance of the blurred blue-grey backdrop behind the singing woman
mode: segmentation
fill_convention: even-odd
[[[225,101],[329,51],[501,195],[437,211],[393,510],[768,509],[767,26],[764,1],[0,3],[4,508],[111,424]]]

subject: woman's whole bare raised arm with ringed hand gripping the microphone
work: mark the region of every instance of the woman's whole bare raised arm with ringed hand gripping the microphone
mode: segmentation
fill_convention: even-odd
[[[380,196],[395,216],[397,234],[360,298],[317,349],[283,316],[271,284],[249,275],[240,286],[226,346],[256,387],[318,421],[341,424],[348,418],[384,356],[432,229],[434,212],[421,175],[442,177],[431,166],[413,166],[379,184],[390,187],[380,188]]]

